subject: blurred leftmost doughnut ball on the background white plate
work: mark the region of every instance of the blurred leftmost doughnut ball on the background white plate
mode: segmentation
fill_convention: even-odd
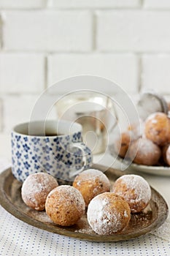
[[[131,134],[130,132],[123,132],[120,135],[120,138],[118,138],[115,141],[115,152],[120,156],[120,157],[125,157],[126,152],[128,151],[128,146],[131,141]]]

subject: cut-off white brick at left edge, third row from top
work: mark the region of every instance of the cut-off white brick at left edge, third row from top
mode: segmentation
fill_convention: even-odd
[[[38,53],[0,53],[0,92],[42,92],[45,56]]]

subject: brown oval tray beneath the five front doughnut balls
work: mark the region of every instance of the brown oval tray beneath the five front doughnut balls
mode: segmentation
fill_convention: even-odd
[[[98,170],[106,170],[101,165],[93,165]],[[111,183],[123,173],[120,170],[108,168],[105,172]],[[152,189],[152,198],[150,204],[139,214],[131,214],[131,220],[128,227],[125,227],[120,233],[114,235],[97,235],[88,225],[86,214],[76,225],[72,227],[61,227],[55,225],[45,211],[36,211],[28,208],[23,203],[20,195],[22,184],[12,175],[11,168],[4,170],[0,174],[0,204],[6,211],[13,216],[42,230],[58,233],[63,236],[78,238],[87,241],[123,241],[139,236],[144,236],[152,230],[160,227],[168,216],[168,206],[163,197]]]

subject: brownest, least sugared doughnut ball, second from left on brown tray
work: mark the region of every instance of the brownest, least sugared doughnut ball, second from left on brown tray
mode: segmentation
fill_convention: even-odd
[[[61,185],[47,196],[45,210],[55,224],[71,226],[85,213],[85,201],[79,190]]]

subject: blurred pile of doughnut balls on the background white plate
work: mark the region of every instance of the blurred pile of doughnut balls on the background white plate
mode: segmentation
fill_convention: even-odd
[[[138,165],[170,166],[170,118],[166,113],[152,113],[143,124],[142,134],[134,136],[134,127],[123,132],[115,142],[115,152]]]

